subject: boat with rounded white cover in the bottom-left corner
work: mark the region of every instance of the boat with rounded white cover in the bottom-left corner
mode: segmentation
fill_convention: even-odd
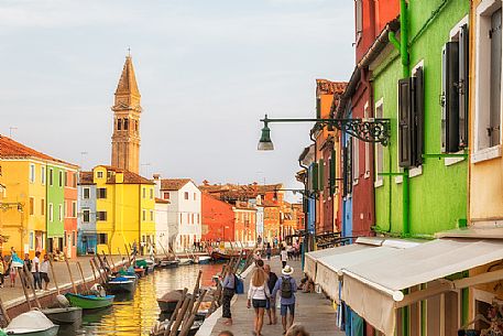
[[[52,323],[42,312],[30,311],[12,318],[7,328],[7,335],[22,336],[56,336],[58,325]]]

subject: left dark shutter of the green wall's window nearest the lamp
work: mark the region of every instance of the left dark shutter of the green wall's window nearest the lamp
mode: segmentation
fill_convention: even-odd
[[[403,167],[413,164],[411,82],[411,78],[398,80],[398,165]]]

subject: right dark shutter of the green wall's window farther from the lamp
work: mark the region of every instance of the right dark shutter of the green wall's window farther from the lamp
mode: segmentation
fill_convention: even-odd
[[[469,96],[469,35],[468,25],[459,31],[459,147],[468,147],[468,96]]]

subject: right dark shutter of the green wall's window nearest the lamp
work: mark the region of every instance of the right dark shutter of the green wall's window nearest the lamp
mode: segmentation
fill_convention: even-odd
[[[423,164],[424,149],[424,120],[425,120],[425,89],[424,89],[424,73],[423,67],[416,68],[413,77],[413,147],[412,156],[413,165],[419,166]]]

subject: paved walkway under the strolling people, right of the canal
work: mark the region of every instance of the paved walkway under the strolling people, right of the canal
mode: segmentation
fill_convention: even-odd
[[[273,258],[271,260],[271,268],[278,277],[281,277],[281,262],[280,259]],[[303,272],[300,270],[299,261],[289,261],[295,272],[294,278],[297,283],[300,282]],[[252,335],[253,330],[253,308],[247,308],[247,295],[251,275],[244,280],[244,294],[236,295],[232,303],[232,326],[226,326],[221,318],[221,308],[218,310],[214,316],[209,317],[206,325],[199,330],[197,336],[217,336],[221,330],[231,330],[234,335]],[[297,301],[295,307],[295,323],[302,324],[309,332],[311,336],[342,336],[345,333],[337,329],[336,326],[336,312],[331,306],[329,300],[322,294],[317,293],[296,293]],[[218,315],[218,316],[215,316]],[[280,310],[276,310],[277,324],[267,325],[269,318],[264,315],[264,326],[262,334],[264,336],[276,336],[283,334],[281,325]]]

